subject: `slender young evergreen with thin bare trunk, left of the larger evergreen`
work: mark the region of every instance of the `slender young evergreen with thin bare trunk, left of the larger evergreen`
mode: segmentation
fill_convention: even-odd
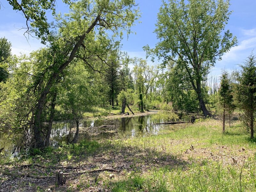
[[[228,77],[228,72],[223,71],[222,77],[220,80],[220,102],[223,105],[223,127],[222,132],[225,132],[225,109],[230,109],[232,107],[233,103],[233,95],[232,95],[232,89],[231,89],[231,83],[230,79]]]

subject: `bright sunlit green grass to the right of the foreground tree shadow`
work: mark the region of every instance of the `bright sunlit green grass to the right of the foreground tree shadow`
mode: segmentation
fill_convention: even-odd
[[[123,142],[124,145],[140,150],[155,151],[155,155],[162,155],[162,161],[170,154],[176,154],[173,155],[174,159],[179,156],[188,161],[188,164],[174,168],[165,162],[167,164],[165,166],[159,165],[142,173],[140,177],[133,177],[134,183],[141,181],[139,183],[142,187],[137,190],[148,192],[256,191],[256,143],[237,123],[231,128],[227,126],[224,134],[220,121],[209,119],[187,125],[185,128],[181,126],[179,129],[172,129],[170,126],[169,130],[164,130],[160,135],[137,137]],[[119,146],[123,142],[120,141]],[[195,150],[212,151],[216,158],[197,156],[196,153],[186,157],[184,151],[191,144]],[[227,149],[221,151],[222,146]],[[238,152],[242,148],[246,148],[246,151]],[[180,155],[177,156],[178,152]],[[233,155],[237,158],[241,157],[238,164],[232,162],[230,157]],[[223,156],[229,156],[229,159]],[[131,183],[132,181],[127,177],[122,182]],[[134,185],[127,186],[126,191],[136,191],[133,188]]]

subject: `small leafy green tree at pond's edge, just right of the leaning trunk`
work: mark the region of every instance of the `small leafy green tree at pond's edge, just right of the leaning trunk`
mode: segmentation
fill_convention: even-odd
[[[76,143],[79,135],[80,118],[95,103],[95,92],[92,89],[93,86],[90,85],[90,74],[81,61],[69,66],[65,73],[65,79],[61,82],[58,92],[57,104],[61,107],[63,116],[68,116],[75,121],[76,132],[72,138],[72,127],[70,127],[68,143]]]

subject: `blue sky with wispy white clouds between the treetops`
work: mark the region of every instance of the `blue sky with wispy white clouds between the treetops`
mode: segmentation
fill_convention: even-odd
[[[59,3],[58,3],[59,2]],[[221,69],[231,70],[238,68],[244,59],[252,52],[256,53],[256,0],[231,0],[230,10],[233,10],[228,21],[227,29],[237,36],[238,46],[224,54],[221,61],[217,61],[212,69],[213,75],[219,75]],[[129,39],[123,40],[123,51],[128,52],[131,57],[145,58],[142,47],[149,44],[153,47],[156,42],[156,35],[153,33],[156,23],[156,15],[161,5],[160,0],[137,0],[141,10],[141,23],[132,28],[135,34]],[[67,7],[57,1],[57,12],[67,11]],[[42,45],[40,40],[30,38],[28,41],[23,36],[24,31],[19,30],[25,26],[25,19],[20,12],[15,12],[6,0],[1,1],[0,10],[0,37],[5,36],[12,43],[12,53],[29,53]],[[148,60],[149,64],[152,64]],[[154,63],[156,64],[156,63]]]

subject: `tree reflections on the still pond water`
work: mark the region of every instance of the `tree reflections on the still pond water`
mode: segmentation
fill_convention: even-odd
[[[153,122],[151,115],[146,116],[133,116],[122,117],[117,119],[101,119],[101,120],[87,120],[81,121],[79,140],[83,139],[100,139],[111,138],[113,136],[119,137],[134,137],[136,135],[149,135],[158,134],[159,130],[164,127],[161,124],[162,121]],[[113,125],[117,127],[116,131],[106,131],[106,129],[99,128],[102,125]],[[52,145],[56,145],[59,142],[65,140],[66,135],[70,131],[70,127],[74,125],[71,122],[58,122],[55,124],[54,130],[52,130]],[[72,133],[74,134],[74,133]]]

